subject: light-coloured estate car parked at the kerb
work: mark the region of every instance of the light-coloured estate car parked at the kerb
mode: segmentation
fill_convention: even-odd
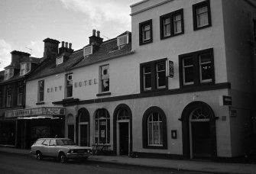
[[[92,148],[79,147],[68,138],[40,138],[31,146],[31,153],[37,160],[57,157],[60,163],[65,163],[67,159],[87,159],[92,154]]]

